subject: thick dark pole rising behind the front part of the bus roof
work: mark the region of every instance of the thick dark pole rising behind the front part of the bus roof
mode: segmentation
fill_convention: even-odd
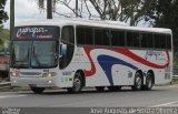
[[[52,0],[47,0],[47,19],[52,19]]]

